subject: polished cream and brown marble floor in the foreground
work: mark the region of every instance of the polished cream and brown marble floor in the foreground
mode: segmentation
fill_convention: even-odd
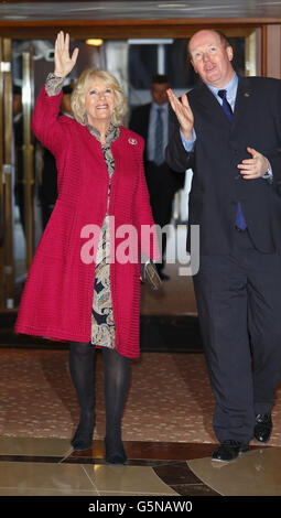
[[[125,442],[125,466],[107,465],[101,441],[73,452],[62,439],[0,438],[0,496],[280,496],[281,449],[251,446],[231,463],[214,444]],[[182,498],[183,500],[184,498]]]

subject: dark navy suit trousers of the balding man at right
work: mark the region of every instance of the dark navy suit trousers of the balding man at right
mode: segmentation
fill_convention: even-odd
[[[194,290],[219,440],[248,442],[281,381],[281,257],[234,230],[226,256],[202,256]]]

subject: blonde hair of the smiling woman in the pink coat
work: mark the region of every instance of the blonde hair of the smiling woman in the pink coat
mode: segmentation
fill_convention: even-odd
[[[111,115],[111,122],[114,126],[119,126],[127,111],[127,97],[123,94],[121,86],[117,78],[107,71],[100,68],[86,68],[78,78],[74,90],[72,93],[72,110],[74,118],[83,126],[87,125],[87,117],[85,111],[86,91],[90,82],[100,79],[107,86],[112,88],[115,93],[115,110]]]

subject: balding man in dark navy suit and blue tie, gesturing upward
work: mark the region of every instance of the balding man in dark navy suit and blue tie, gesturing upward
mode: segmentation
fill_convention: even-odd
[[[172,90],[166,161],[193,169],[190,225],[199,225],[194,276],[216,398],[216,461],[269,440],[281,380],[281,82],[238,77],[223,34],[198,31],[188,51],[202,84]]]

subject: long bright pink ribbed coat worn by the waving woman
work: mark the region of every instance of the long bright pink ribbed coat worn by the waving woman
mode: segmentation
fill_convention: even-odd
[[[61,96],[50,97],[42,88],[32,118],[35,136],[56,158],[58,198],[26,279],[15,331],[56,341],[89,342],[95,261],[82,259],[83,245],[87,250],[90,242],[90,235],[86,231],[86,237],[82,237],[82,229],[87,229],[87,225],[101,227],[109,175],[101,144],[87,127],[58,117]],[[143,140],[123,127],[120,129],[119,139],[111,143],[115,173],[109,215],[115,216],[115,230],[120,225],[134,226],[138,251],[134,247],[133,255],[139,258],[141,225],[154,224],[142,165]],[[128,237],[115,236],[114,248],[112,235],[110,230],[111,253],[118,246],[119,251],[125,249]],[[142,251],[158,259],[155,234],[144,241]],[[127,357],[138,357],[139,260],[111,262],[110,282],[117,350]]]

